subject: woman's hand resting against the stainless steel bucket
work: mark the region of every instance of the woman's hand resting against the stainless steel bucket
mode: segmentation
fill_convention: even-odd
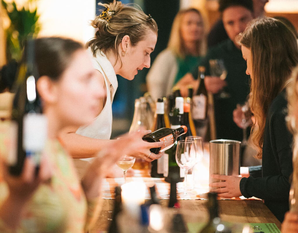
[[[222,182],[215,182],[209,184],[210,187],[215,187],[212,192],[218,193],[218,197],[240,197],[242,196],[240,192],[240,180],[242,177],[229,176],[229,175],[211,175],[212,178],[223,180]]]

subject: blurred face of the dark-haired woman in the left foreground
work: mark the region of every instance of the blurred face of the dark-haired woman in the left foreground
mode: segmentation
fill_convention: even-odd
[[[96,117],[105,91],[95,72],[89,54],[85,50],[77,50],[54,84],[57,95],[54,107],[63,125],[85,125]]]

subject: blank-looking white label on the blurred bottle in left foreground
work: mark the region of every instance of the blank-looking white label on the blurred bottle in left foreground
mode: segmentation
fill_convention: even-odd
[[[26,152],[40,152],[47,138],[47,119],[42,114],[29,113],[23,119],[23,149]]]

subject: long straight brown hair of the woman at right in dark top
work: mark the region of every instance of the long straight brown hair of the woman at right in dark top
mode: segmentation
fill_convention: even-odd
[[[273,99],[285,88],[291,70],[298,64],[296,38],[274,18],[257,18],[240,36],[240,44],[250,49],[252,73],[249,103],[255,125],[251,140],[262,158],[266,115]]]

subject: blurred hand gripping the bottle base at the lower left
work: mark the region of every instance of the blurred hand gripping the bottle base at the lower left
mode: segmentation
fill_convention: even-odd
[[[21,200],[23,203],[32,197],[40,184],[47,183],[52,177],[53,169],[46,155],[43,155],[41,158],[37,177],[35,175],[35,164],[31,158],[25,159],[23,171],[20,176],[10,175],[8,166],[3,160],[0,161],[0,166],[3,178],[9,188],[11,199]]]

